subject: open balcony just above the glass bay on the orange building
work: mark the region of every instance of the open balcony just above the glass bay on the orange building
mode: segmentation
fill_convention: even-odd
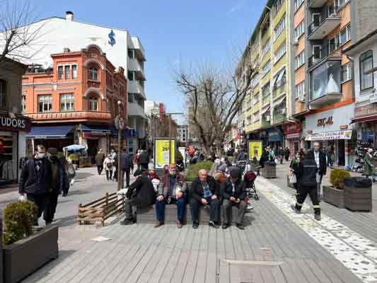
[[[337,15],[339,7],[329,6],[323,8],[317,21],[313,21],[308,27],[309,40],[322,40],[340,24],[340,16]]]

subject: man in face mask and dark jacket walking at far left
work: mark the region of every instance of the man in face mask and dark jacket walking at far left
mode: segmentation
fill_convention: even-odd
[[[38,207],[34,224],[38,225],[38,219],[45,210],[47,194],[52,190],[52,166],[46,158],[46,148],[43,145],[37,146],[37,153],[33,158],[28,159],[23,165],[20,177],[18,192],[25,195],[30,202]]]

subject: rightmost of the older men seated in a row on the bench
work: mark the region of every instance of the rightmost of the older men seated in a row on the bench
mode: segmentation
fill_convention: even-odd
[[[227,229],[230,224],[230,214],[233,206],[238,208],[238,215],[236,218],[236,226],[238,229],[243,230],[243,217],[245,216],[246,207],[248,204],[245,202],[245,188],[243,181],[240,179],[240,170],[233,169],[231,176],[221,184],[221,195],[223,197],[223,229]]]

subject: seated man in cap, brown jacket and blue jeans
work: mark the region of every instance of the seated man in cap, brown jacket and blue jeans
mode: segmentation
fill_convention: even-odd
[[[155,227],[162,226],[165,221],[165,205],[177,205],[177,226],[182,228],[182,220],[185,214],[187,183],[185,178],[176,170],[175,164],[170,164],[169,171],[163,175],[158,185],[158,197],[156,200],[156,218]]]

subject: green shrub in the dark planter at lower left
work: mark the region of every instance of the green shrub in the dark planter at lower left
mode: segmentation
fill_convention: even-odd
[[[33,202],[13,202],[4,209],[3,243],[11,245],[30,236],[37,206]]]

